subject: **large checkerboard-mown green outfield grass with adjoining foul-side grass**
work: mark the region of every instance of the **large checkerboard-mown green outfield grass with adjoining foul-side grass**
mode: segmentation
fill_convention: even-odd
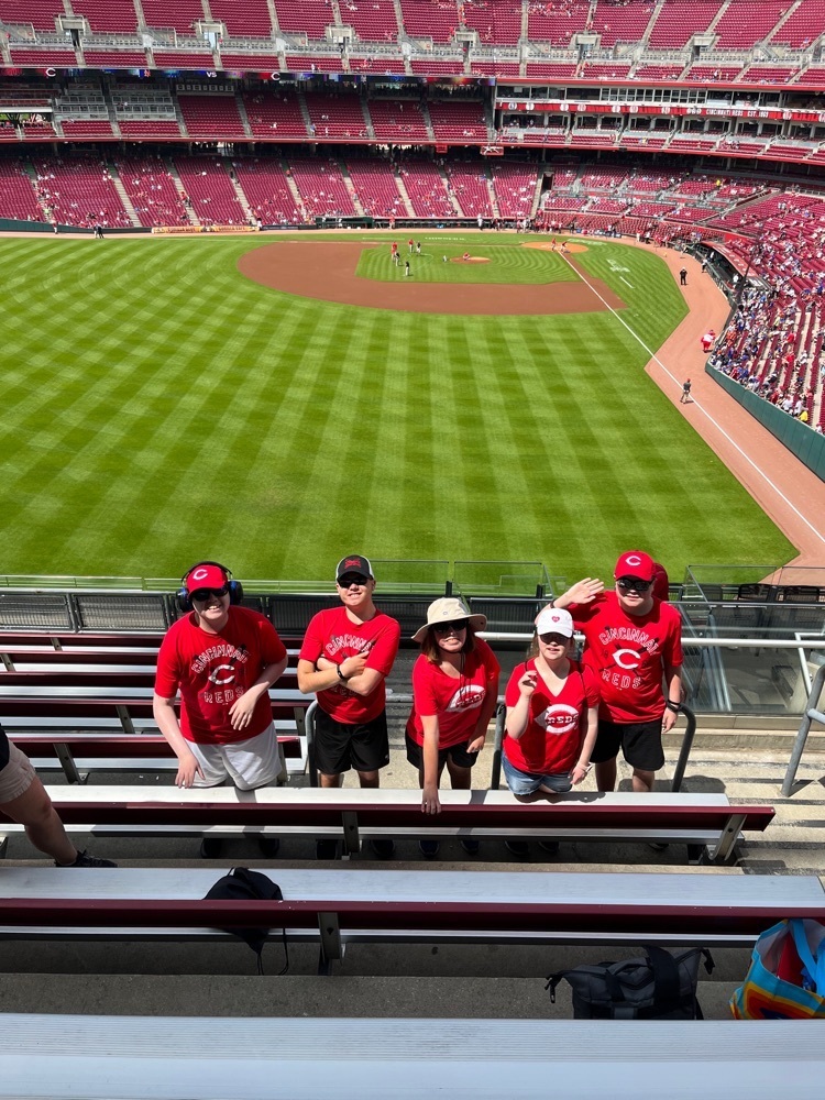
[[[0,240],[4,572],[170,576],[209,557],[315,580],[359,550],[575,576],[642,546],[680,575],[792,556],[612,315],[299,299],[237,271],[265,243]],[[576,258],[650,346],[683,316],[656,255]]]

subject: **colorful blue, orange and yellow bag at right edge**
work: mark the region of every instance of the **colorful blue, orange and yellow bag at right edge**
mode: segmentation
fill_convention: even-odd
[[[825,925],[780,921],[763,932],[730,1011],[736,1020],[825,1020]]]

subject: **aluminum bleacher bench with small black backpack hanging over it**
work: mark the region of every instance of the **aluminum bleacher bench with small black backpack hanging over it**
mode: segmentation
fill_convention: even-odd
[[[352,943],[750,946],[788,916],[821,919],[815,876],[277,868],[283,901],[205,895],[220,871],[0,868],[0,939],[213,939],[270,927]],[[403,964],[400,964],[403,966]]]

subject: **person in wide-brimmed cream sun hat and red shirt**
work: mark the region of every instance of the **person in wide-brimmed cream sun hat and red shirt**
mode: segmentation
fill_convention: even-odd
[[[471,768],[484,747],[498,698],[499,664],[490,646],[475,637],[487,625],[462,600],[447,596],[427,608],[427,625],[413,636],[421,656],[413,669],[413,711],[407,721],[407,759],[418,768],[421,811],[441,810],[438,785],[447,767],[453,790],[470,790]],[[477,840],[462,842],[476,851]],[[422,840],[435,856],[437,840]]]

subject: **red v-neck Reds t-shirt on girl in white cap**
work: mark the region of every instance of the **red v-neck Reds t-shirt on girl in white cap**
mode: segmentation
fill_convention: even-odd
[[[598,681],[590,669],[571,661],[561,691],[553,695],[530,658],[513,670],[504,695],[507,706],[518,703],[518,681],[532,671],[539,679],[530,695],[530,721],[518,739],[505,733],[504,755],[514,768],[531,776],[562,776],[579,759],[587,732],[587,710],[598,705]]]

